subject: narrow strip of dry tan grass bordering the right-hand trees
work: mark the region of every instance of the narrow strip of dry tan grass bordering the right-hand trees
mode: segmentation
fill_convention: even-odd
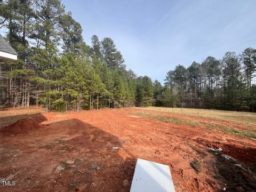
[[[174,113],[174,114],[191,115],[195,117],[207,117],[207,118],[219,119],[223,121],[256,124],[256,113],[211,110],[211,109],[164,108],[164,107],[147,107],[147,108],[141,108],[141,109],[163,111],[163,112]]]

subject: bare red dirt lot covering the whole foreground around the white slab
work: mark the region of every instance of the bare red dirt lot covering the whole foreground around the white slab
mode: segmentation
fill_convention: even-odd
[[[250,118],[10,108],[0,111],[0,178],[15,186],[0,190],[129,191],[142,158],[169,165],[176,191],[255,191],[256,119]]]

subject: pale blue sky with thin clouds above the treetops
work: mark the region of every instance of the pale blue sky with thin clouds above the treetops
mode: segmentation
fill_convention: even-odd
[[[163,82],[181,64],[256,48],[256,1],[63,0],[83,37],[110,37],[127,69]]]

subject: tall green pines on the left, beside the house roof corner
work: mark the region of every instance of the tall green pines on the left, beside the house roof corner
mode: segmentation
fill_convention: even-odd
[[[151,79],[126,70],[111,38],[93,35],[87,45],[61,1],[1,1],[0,28],[19,58],[1,65],[1,105],[64,111],[150,104]]]

